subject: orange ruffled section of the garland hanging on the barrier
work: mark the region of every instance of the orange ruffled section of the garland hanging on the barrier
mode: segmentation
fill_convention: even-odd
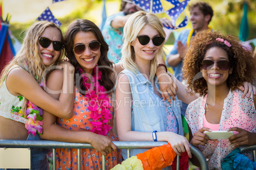
[[[162,147],[155,147],[146,152],[136,155],[141,160],[144,170],[148,169],[163,169],[164,167],[171,166],[176,153],[171,145],[162,145]]]

